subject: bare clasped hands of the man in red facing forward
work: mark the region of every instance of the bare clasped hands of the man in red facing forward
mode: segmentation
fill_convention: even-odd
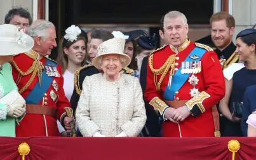
[[[172,121],[173,123],[179,123],[184,121],[191,113],[186,105],[179,107],[178,109],[174,109],[172,107],[168,107],[165,110],[164,116],[166,119]]]

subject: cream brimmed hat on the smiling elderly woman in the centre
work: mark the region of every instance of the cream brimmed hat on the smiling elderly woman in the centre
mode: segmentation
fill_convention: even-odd
[[[100,62],[103,55],[120,55],[123,59],[122,67],[127,67],[131,62],[131,58],[123,53],[125,50],[125,39],[127,39],[129,36],[125,36],[122,32],[119,31],[113,31],[112,34],[114,38],[104,41],[97,48],[98,55],[92,60],[93,65],[97,69],[100,69]]]

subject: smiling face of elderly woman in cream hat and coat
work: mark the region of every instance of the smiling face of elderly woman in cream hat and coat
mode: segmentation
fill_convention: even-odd
[[[119,55],[109,54],[102,57],[102,70],[106,76],[118,77],[121,67],[121,58]]]

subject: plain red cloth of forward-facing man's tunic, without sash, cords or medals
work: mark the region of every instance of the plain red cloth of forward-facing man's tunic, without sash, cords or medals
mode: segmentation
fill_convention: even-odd
[[[175,60],[175,67],[179,69],[182,62],[188,57],[191,51],[196,47],[195,43],[190,43],[184,50],[180,51]],[[163,66],[166,60],[174,55],[175,52],[171,50],[170,45],[165,46],[163,49],[158,50],[153,53],[153,67],[154,69],[159,69]],[[159,81],[158,75],[156,78]],[[197,117],[190,115],[179,125],[172,123],[170,121],[165,121],[163,123],[163,137],[214,137],[214,124],[212,116],[212,107],[219,100],[224,97],[225,94],[225,82],[222,73],[222,68],[219,63],[219,59],[214,51],[206,51],[205,55],[201,58],[201,72],[194,74],[198,77],[199,81],[196,88],[199,92],[205,91],[210,95],[209,98],[203,100],[203,107],[205,112]],[[147,88],[145,90],[145,98],[147,101],[151,102],[154,97],[158,97],[164,100],[163,94],[165,93],[166,86],[168,86],[170,73],[166,74],[161,83],[161,89],[158,91],[154,83],[154,74],[150,69],[149,65],[147,67]],[[180,88],[179,93],[175,95],[175,100],[191,100],[191,90],[193,86],[188,82]],[[175,85],[172,83],[172,86]],[[171,87],[172,87],[171,86]],[[181,135],[180,135],[181,133]]]

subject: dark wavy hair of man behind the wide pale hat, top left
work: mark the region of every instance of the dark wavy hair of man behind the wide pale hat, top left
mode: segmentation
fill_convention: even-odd
[[[11,22],[11,19],[15,16],[19,15],[22,18],[29,19],[29,25],[32,23],[32,17],[29,13],[29,11],[25,10],[24,8],[13,8],[8,11],[8,13],[5,15],[4,23],[9,24]]]

